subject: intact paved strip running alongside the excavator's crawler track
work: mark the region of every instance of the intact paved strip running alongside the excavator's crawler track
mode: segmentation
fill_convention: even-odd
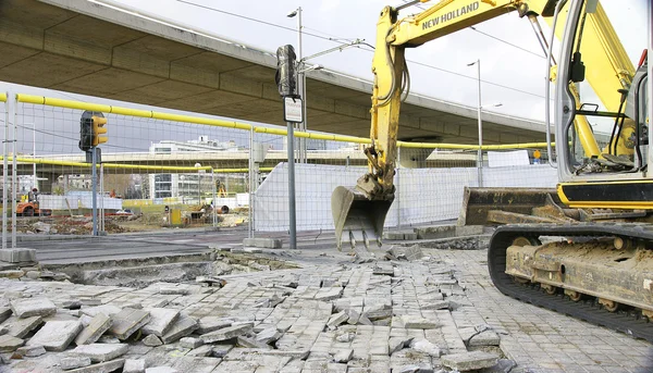
[[[440,251],[434,257],[455,263],[468,299],[520,368],[546,373],[653,372],[651,344],[502,295],[492,286],[486,254],[486,250]]]

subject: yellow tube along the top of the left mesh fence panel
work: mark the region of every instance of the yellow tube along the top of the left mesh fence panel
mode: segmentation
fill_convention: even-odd
[[[111,114],[118,114],[118,115],[149,117],[149,119],[163,120],[163,121],[204,124],[204,125],[225,127],[225,128],[237,128],[237,129],[247,129],[247,130],[251,129],[250,124],[233,122],[233,121],[222,121],[222,120],[215,120],[215,119],[209,119],[209,117],[198,117],[198,116],[190,116],[190,115],[160,113],[160,112],[149,111],[149,110],[137,110],[137,109],[113,107],[113,105],[108,105],[108,104],[62,100],[62,99],[56,99],[56,98],[51,98],[51,97],[44,97],[44,96],[19,94],[19,95],[16,95],[16,100],[19,102],[44,104],[44,105],[48,105],[48,107],[99,111],[102,113],[111,113]]]

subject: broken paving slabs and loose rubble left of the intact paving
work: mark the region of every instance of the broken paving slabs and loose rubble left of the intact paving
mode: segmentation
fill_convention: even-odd
[[[143,289],[1,278],[0,371],[505,371],[452,266],[420,252]]]

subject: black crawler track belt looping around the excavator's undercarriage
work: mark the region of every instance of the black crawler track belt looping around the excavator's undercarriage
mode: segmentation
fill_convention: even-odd
[[[517,237],[539,238],[542,236],[620,236],[652,243],[646,245],[646,247],[651,247],[653,245],[653,227],[645,224],[506,225],[496,229],[490,240],[488,252],[490,276],[496,288],[503,294],[653,343],[653,323],[643,318],[639,311],[611,313],[599,307],[593,300],[575,302],[563,295],[546,295],[539,286],[514,282],[512,276],[505,273],[506,249]]]

